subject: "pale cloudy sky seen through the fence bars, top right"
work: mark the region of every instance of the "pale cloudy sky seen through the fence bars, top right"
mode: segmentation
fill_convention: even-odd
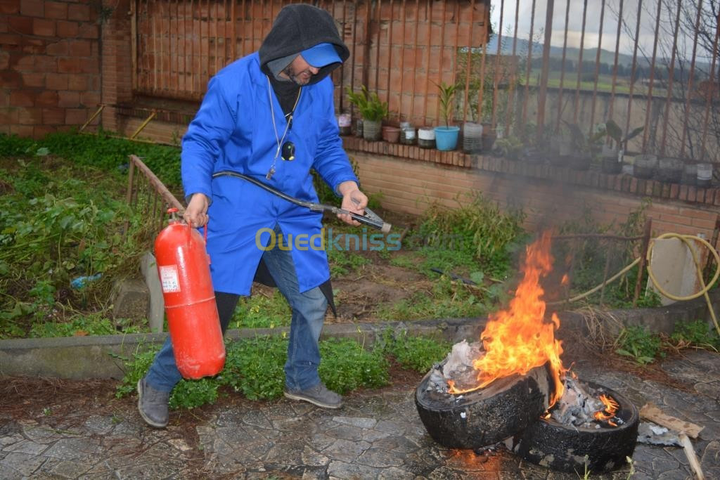
[[[620,53],[632,55],[634,47],[634,32],[637,23],[637,12],[639,1],[642,1],[642,9],[640,14],[640,32],[639,45],[646,52],[652,53],[654,30],[657,18],[657,0],[623,0],[622,17],[626,27],[621,27],[620,42],[618,50]],[[544,23],[546,17],[547,0],[536,0],[534,14],[534,40],[542,42],[544,40]],[[601,47],[611,52],[615,51],[617,30],[618,30],[618,12],[621,0],[606,0],[605,10],[603,14],[603,35]],[[662,2],[667,3],[666,1]],[[492,0],[492,12],[490,20],[495,31],[500,27],[500,10],[503,5],[503,35],[512,36],[515,31],[516,24],[516,6],[518,9],[518,37],[529,39],[532,14],[532,0]],[[562,47],[565,31],[565,15],[567,6],[570,4],[570,14],[568,16],[567,25],[567,46],[580,47],[580,37],[582,32],[582,0],[554,0],[553,23],[552,23],[552,40],[551,45]],[[674,4],[674,2],[672,2]],[[696,1],[685,0],[686,6],[696,4]],[[587,13],[585,15],[585,40],[584,47],[595,48],[598,46],[600,37],[600,16],[603,12],[602,0],[588,0]],[[660,37],[672,37],[671,24],[674,22],[675,12],[667,12],[667,9],[661,9],[660,14]],[[672,20],[672,21],[671,21]],[[629,28],[629,31],[626,30]],[[670,35],[668,35],[670,34]],[[678,36],[678,50],[685,53],[685,57],[691,56],[692,39]],[[670,44],[672,45],[672,44]]]

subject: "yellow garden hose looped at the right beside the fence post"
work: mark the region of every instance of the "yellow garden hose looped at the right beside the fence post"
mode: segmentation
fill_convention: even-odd
[[[678,295],[670,294],[667,291],[665,291],[665,289],[663,289],[662,286],[660,286],[660,282],[657,281],[654,274],[652,273],[652,268],[650,268],[650,255],[652,254],[652,247],[654,245],[655,240],[661,240],[661,239],[665,239],[665,238],[679,238],[680,240],[683,240],[683,243],[685,243],[685,245],[687,245],[688,248],[690,249],[690,253],[693,255],[693,261],[695,262],[696,273],[698,273],[698,280],[700,281],[700,284],[703,286],[703,288],[700,291],[696,292],[695,294],[687,295],[687,296],[678,296]],[[703,280],[702,268],[698,261],[698,257],[695,253],[695,250],[690,246],[690,240],[697,240],[698,242],[705,245],[708,248],[708,250],[710,251],[710,253],[712,253],[712,255],[715,257],[715,264],[717,266],[715,269],[715,275],[713,276],[712,280],[707,285],[705,284],[705,281]],[[715,310],[713,309],[712,302],[710,302],[710,296],[708,295],[708,291],[711,289],[711,286],[713,286],[715,284],[715,282],[717,281],[718,277],[720,277],[720,255],[718,254],[717,250],[715,250],[713,248],[713,246],[710,245],[710,243],[707,240],[705,240],[704,238],[701,238],[701,237],[697,237],[696,235],[680,235],[679,233],[663,233],[662,235],[660,235],[660,237],[650,239],[650,242],[647,247],[647,258],[646,259],[647,259],[647,275],[649,276],[650,281],[652,281],[652,284],[655,286],[655,288],[658,291],[660,291],[660,293],[662,295],[667,296],[667,298],[669,298],[671,300],[675,300],[675,301],[693,300],[693,299],[698,298],[698,296],[701,296],[701,295],[705,296],[705,301],[708,304],[708,310],[710,310],[710,316],[713,319],[713,323],[715,325],[715,329],[718,332],[718,335],[720,335],[720,325],[718,324],[718,320],[715,315]],[[636,258],[635,261],[630,263],[628,266],[623,268],[621,271],[618,271],[618,273],[613,275],[610,279],[603,281],[602,284],[595,286],[595,288],[588,290],[583,294],[573,296],[571,299],[567,299],[562,302],[552,302],[550,304],[559,304],[559,303],[564,303],[564,302],[577,302],[577,300],[584,299],[586,296],[590,296],[591,294],[594,294],[596,291],[603,288],[603,286],[606,286],[607,284],[610,284],[613,281],[615,281],[616,279],[620,278],[622,275],[624,275],[624,273],[627,273],[628,271],[630,271],[631,268],[633,268],[638,263],[640,263],[641,260],[642,260],[641,257]]]

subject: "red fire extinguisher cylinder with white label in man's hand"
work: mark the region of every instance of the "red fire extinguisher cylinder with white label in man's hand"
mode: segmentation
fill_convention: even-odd
[[[171,219],[155,239],[155,255],[175,362],[184,378],[201,379],[222,370],[225,344],[205,241],[177,211],[168,209]]]

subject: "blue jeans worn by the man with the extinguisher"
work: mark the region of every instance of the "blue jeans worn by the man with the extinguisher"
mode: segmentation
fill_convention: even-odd
[[[279,233],[278,226],[275,232]],[[289,250],[280,250],[278,245],[263,253],[263,260],[270,271],[280,293],[292,309],[290,339],[287,345],[285,363],[285,385],[289,390],[305,390],[320,383],[318,366],[320,350],[318,340],[323,329],[328,301],[319,287],[300,293],[297,273]],[[238,303],[238,295],[215,292],[217,313],[223,334]],[[171,391],[182,379],[175,363],[170,337],[150,366],[145,381],[159,391]]]

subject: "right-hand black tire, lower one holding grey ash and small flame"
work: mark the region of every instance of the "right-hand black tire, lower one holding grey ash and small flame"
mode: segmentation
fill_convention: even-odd
[[[637,440],[637,409],[615,391],[586,383],[619,404],[613,417],[617,426],[577,427],[552,418],[541,419],[513,438],[513,452],[532,463],[580,475],[585,471],[585,463],[593,474],[625,465]]]

